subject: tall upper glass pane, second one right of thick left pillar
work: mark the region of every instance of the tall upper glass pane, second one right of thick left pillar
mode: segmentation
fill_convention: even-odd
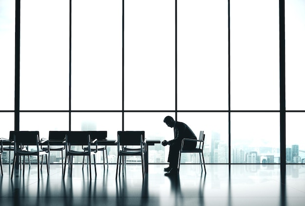
[[[72,1],[73,110],[122,109],[122,1]]]

